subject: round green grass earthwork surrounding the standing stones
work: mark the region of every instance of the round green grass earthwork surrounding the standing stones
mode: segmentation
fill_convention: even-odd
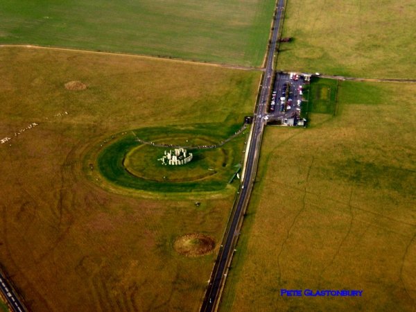
[[[220,191],[227,187],[228,181],[241,164],[241,146],[245,135],[234,137],[224,146],[209,150],[189,150],[193,160],[183,166],[164,166],[158,159],[169,148],[144,145],[137,138],[148,141],[162,141],[164,144],[219,144],[234,134],[236,127],[224,127],[222,124],[196,124],[188,127],[143,128],[133,132],[123,132],[107,146],[96,146],[99,150],[87,157],[87,164],[96,164],[99,169],[94,173],[87,168],[92,180],[100,180],[119,187],[140,191],[164,193],[192,193],[196,191]],[[237,125],[238,128],[238,125]],[[198,140],[199,139],[199,140]],[[188,141],[188,142],[187,142]],[[98,153],[98,157],[96,154]],[[91,158],[96,157],[96,161]],[[86,166],[87,167],[87,166]],[[102,177],[101,177],[102,175]]]

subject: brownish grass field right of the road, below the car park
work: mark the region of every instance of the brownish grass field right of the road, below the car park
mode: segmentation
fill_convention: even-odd
[[[266,129],[220,311],[415,311],[416,85],[343,82],[338,92],[336,116]]]

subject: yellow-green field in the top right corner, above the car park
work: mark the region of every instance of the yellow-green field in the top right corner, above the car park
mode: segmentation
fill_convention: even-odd
[[[278,69],[415,79],[412,0],[287,1]]]

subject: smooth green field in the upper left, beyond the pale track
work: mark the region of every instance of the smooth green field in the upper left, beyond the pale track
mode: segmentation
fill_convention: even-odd
[[[0,43],[263,62],[275,1],[15,1],[0,4]]]

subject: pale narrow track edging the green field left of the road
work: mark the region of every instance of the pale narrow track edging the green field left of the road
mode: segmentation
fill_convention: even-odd
[[[178,58],[164,58],[164,57],[144,55],[144,54],[93,51],[93,50],[63,48],[63,47],[58,47],[58,46],[38,46],[37,44],[0,44],[0,48],[45,49],[45,50],[51,50],[51,51],[69,51],[69,52],[78,52],[78,53],[91,53],[91,54],[98,54],[98,55],[128,56],[128,57],[133,57],[133,58],[146,58],[148,60],[165,60],[165,61],[178,62],[178,63],[183,63],[183,64],[195,64],[195,65],[205,65],[205,66],[211,66],[211,67],[222,67],[222,68],[227,68],[227,69],[239,69],[242,71],[264,71],[263,67],[248,67],[248,66],[243,66],[243,65],[200,62],[200,61],[192,61],[192,60],[182,60]]]

